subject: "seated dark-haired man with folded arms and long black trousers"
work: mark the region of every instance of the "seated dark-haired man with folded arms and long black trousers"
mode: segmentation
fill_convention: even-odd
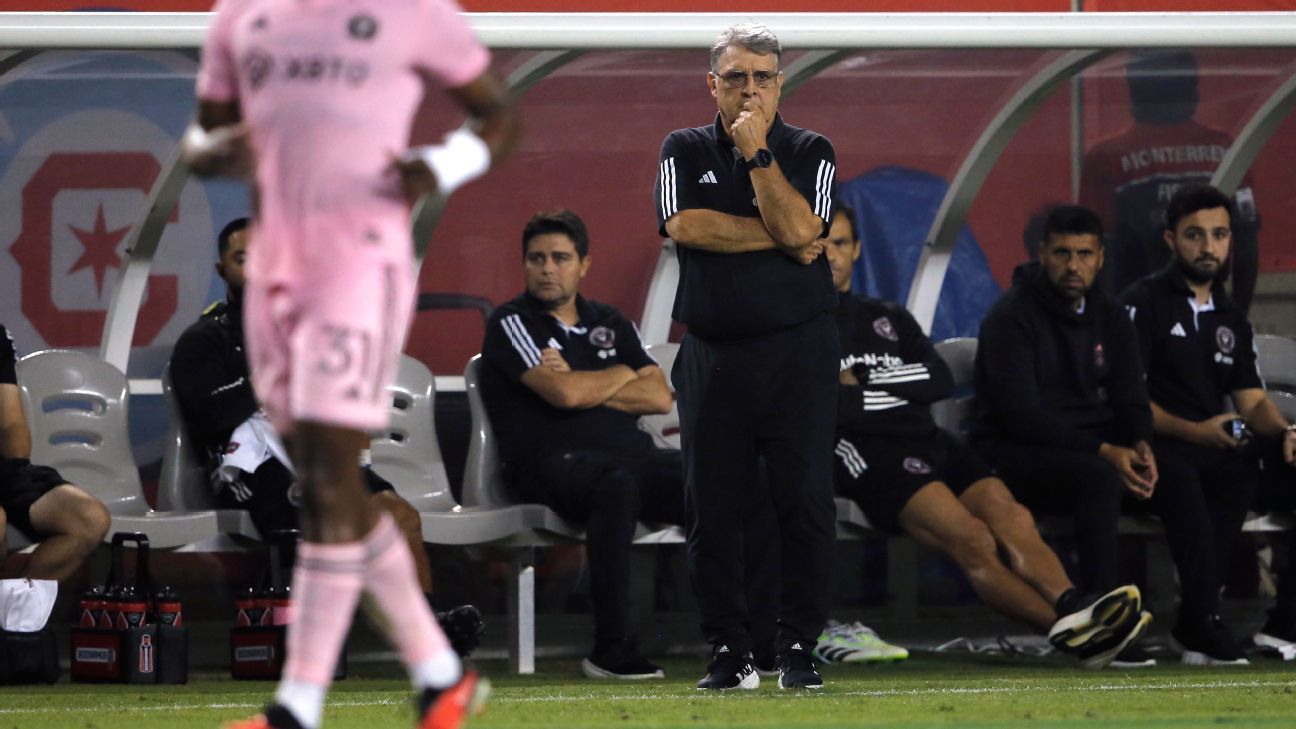
[[[520,501],[586,525],[595,646],[586,675],[660,677],[630,625],[630,546],[638,521],[682,524],[683,466],[639,415],[671,393],[634,324],[578,293],[588,235],[574,213],[539,214],[522,232],[526,292],[498,307],[482,342],[482,397]]]

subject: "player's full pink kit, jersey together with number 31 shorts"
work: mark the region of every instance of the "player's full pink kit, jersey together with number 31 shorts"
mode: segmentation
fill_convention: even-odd
[[[251,137],[248,354],[281,431],[385,425],[416,291],[391,160],[422,77],[457,87],[489,61],[450,0],[218,3],[198,97],[237,101]]]

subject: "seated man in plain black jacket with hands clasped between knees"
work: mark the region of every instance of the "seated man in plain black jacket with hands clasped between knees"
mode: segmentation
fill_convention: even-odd
[[[1076,520],[1080,586],[1117,584],[1121,498],[1157,485],[1152,411],[1125,310],[1094,287],[1103,226],[1068,205],[1045,222],[1039,259],[981,322],[972,436],[1029,508]]]

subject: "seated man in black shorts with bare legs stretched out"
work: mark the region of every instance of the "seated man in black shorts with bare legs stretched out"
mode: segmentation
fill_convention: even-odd
[[[879,528],[953,559],[999,612],[1041,632],[1076,632],[1087,620],[1081,614],[1102,601],[1074,589],[1030,511],[975,450],[936,425],[929,406],[953,393],[949,367],[905,307],[850,294],[859,257],[851,221],[848,208],[837,209],[826,250],[840,292],[837,493]],[[1055,641],[1090,665],[1109,660],[1142,629],[1135,588],[1103,599],[1124,612],[1116,639],[1093,630],[1085,639]],[[1061,625],[1068,616],[1077,617]]]

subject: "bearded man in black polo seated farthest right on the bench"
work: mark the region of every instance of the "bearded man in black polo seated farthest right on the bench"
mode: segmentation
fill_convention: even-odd
[[[1170,263],[1121,296],[1147,363],[1156,462],[1163,481],[1179,486],[1160,505],[1174,559],[1181,575],[1217,579],[1181,580],[1174,636],[1188,649],[1185,659],[1203,664],[1245,663],[1216,612],[1229,555],[1260,481],[1257,455],[1266,457],[1266,475],[1287,481],[1284,490],[1296,475],[1288,466],[1296,432],[1265,396],[1251,323],[1223,289],[1232,210],[1232,201],[1213,187],[1179,188],[1166,206]],[[1235,411],[1225,411],[1226,398]],[[1175,523],[1185,527],[1175,529]],[[1286,582],[1282,593],[1296,592]],[[1296,637],[1282,624],[1296,619],[1293,597],[1280,601],[1290,607],[1273,614],[1257,642],[1275,643],[1270,632]]]

